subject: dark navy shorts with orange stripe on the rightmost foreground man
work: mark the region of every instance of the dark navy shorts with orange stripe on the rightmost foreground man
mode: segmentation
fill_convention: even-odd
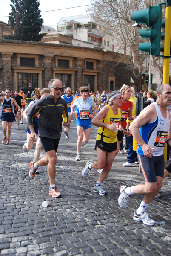
[[[146,182],[156,182],[156,176],[163,177],[165,160],[163,154],[159,157],[145,157],[138,154],[143,179]]]

